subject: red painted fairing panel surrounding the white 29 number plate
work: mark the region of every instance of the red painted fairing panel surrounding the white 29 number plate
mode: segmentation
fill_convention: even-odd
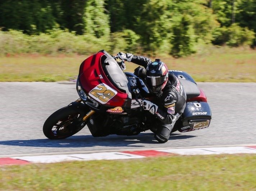
[[[105,83],[106,85],[114,89],[116,91],[116,94],[111,97],[111,99],[106,101],[104,105],[114,107],[123,106],[128,95],[119,91],[105,75],[104,70],[101,66],[101,57],[103,55],[103,52],[98,52],[97,54],[88,57],[82,62],[79,70],[79,82],[87,94],[95,89],[96,86],[100,85],[101,83]],[[97,98],[93,96],[91,97],[98,101]]]

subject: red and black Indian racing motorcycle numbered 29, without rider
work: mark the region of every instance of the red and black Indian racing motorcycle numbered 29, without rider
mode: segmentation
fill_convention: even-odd
[[[138,135],[150,129],[152,115],[142,109],[141,101],[153,96],[144,79],[123,72],[124,61],[102,50],[85,59],[79,68],[79,99],[47,118],[43,132],[49,139],[65,139],[88,126],[93,137],[110,134]],[[211,109],[204,92],[186,72],[169,70],[179,78],[187,94],[184,113],[172,132],[207,128]],[[157,124],[156,124],[157,125]]]

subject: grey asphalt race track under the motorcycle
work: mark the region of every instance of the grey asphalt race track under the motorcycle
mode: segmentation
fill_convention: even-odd
[[[0,157],[209,145],[256,144],[256,83],[198,83],[207,95],[212,121],[207,129],[175,132],[159,144],[150,131],[137,136],[94,138],[87,127],[64,140],[47,139],[42,126],[55,110],[78,98],[75,84],[0,83]]]

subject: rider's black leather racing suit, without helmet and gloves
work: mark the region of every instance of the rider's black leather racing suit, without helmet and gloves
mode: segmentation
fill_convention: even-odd
[[[129,61],[145,68],[152,62],[150,58],[135,55],[131,55]],[[158,120],[152,122],[151,131],[159,142],[164,143],[168,141],[175,122],[184,112],[187,95],[178,78],[172,74],[169,74],[164,89],[154,95],[152,102],[158,106],[154,116]]]

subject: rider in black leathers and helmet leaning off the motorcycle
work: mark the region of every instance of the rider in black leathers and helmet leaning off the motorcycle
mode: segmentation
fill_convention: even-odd
[[[159,143],[167,142],[175,122],[186,106],[187,95],[182,84],[176,76],[168,73],[167,66],[160,59],[152,62],[150,58],[123,52],[119,52],[116,57],[144,67],[136,68],[134,73],[146,80],[154,94],[154,99],[143,100],[143,109],[148,110],[158,119],[157,125],[151,127],[155,139]]]

